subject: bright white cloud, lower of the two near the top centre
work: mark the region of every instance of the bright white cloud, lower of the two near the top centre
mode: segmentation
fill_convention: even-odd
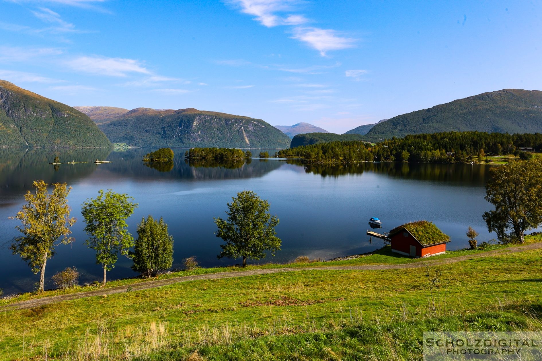
[[[321,56],[326,56],[330,50],[353,48],[357,40],[344,37],[339,31],[319,28],[294,28],[293,39],[305,42],[309,47],[320,51]]]

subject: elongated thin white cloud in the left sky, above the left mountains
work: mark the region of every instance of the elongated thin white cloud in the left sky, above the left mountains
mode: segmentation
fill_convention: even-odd
[[[66,65],[82,73],[125,77],[131,73],[151,74],[141,63],[133,59],[80,56],[66,61]]]

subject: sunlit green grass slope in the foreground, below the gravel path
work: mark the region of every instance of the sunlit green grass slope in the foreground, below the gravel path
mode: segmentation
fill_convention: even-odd
[[[301,264],[4,311],[0,359],[421,359],[423,331],[540,330],[541,256],[379,271]],[[398,261],[384,249],[340,264]]]

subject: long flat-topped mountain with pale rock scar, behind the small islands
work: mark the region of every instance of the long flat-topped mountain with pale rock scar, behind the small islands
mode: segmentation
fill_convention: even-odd
[[[288,148],[289,137],[260,119],[194,108],[136,108],[99,125],[113,143],[137,147]]]

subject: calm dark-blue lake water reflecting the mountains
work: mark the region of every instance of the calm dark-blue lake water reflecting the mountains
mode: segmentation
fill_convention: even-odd
[[[263,262],[287,261],[298,255],[328,259],[372,251],[382,243],[373,240],[370,244],[365,235],[371,216],[384,222],[383,231],[412,220],[433,221],[450,235],[449,249],[468,246],[465,232],[469,225],[480,233],[479,242],[495,238],[481,217],[491,209],[483,199],[489,166],[360,163],[305,167],[278,159],[254,159],[225,167],[189,166],[184,162],[184,149],[177,149],[173,168],[157,170],[141,161],[147,152],[0,149],[0,288],[4,293],[29,291],[38,281],[38,275],[8,249],[18,235],[14,229],[17,221],[8,217],[21,208],[23,194],[35,179],[72,186],[68,203],[78,218],[72,227],[74,244],[57,247],[57,254],[47,263],[48,280],[68,266],[78,268],[81,283],[100,279],[102,270],[95,264],[94,252],[83,245],[86,235],[80,205],[95,197],[99,189],[108,188],[128,193],[139,203],[128,219],[135,237],[137,223],[147,214],[164,218],[175,238],[173,267],[182,267],[182,259],[191,255],[203,266],[239,261],[216,258],[222,240],[213,234],[216,226],[212,218],[224,216],[227,202],[245,189],[267,199],[270,212],[280,219],[276,229],[282,251]],[[55,155],[63,162],[107,159],[113,163],[96,166],[89,162],[55,169],[48,164]],[[136,274],[130,266],[130,260],[119,258],[108,273],[109,279],[133,277]]]

